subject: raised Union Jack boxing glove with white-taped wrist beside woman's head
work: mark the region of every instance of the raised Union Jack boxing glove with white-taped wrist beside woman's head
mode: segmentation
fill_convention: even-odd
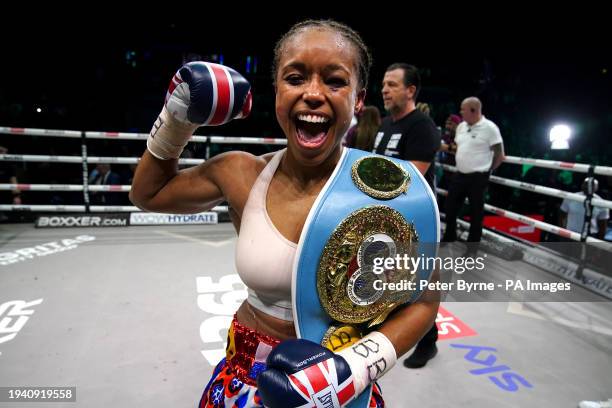
[[[238,72],[210,62],[190,62],[168,87],[147,148],[158,159],[177,159],[200,126],[216,126],[251,112],[251,85]]]

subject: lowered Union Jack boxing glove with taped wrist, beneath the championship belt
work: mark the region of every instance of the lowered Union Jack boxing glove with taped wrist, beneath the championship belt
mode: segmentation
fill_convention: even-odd
[[[257,387],[269,408],[339,408],[389,371],[396,360],[393,344],[380,332],[339,353],[308,340],[286,340],[268,356]]]

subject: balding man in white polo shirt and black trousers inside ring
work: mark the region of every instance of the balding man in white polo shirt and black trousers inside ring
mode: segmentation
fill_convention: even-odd
[[[446,198],[446,231],[443,242],[457,239],[457,213],[465,198],[470,202],[469,242],[480,242],[484,197],[489,175],[504,161],[504,142],[497,125],[482,114],[476,97],[461,103],[463,122],[457,126],[455,144],[442,150],[455,153],[458,172],[453,176]]]

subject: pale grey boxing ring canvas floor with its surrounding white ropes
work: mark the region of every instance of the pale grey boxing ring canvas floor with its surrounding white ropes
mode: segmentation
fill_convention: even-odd
[[[90,205],[90,192],[121,194],[129,186],[89,185],[88,164],[129,164],[138,159],[90,157],[87,140],[144,141],[146,134],[15,128],[0,128],[0,133],[80,139],[81,156],[4,154],[0,161],[72,163],[83,179],[80,185],[2,184],[3,190],[82,192],[83,204],[2,203],[0,211],[138,213],[131,206]],[[283,145],[285,140],[199,136],[196,142],[206,144],[208,158],[212,143]],[[181,165],[201,162],[181,159]],[[516,157],[506,162],[612,175],[612,168],[602,166]],[[491,182],[551,197],[585,199],[497,176]],[[593,198],[592,204],[612,208],[607,200]],[[566,240],[609,245],[489,204],[485,210]],[[222,214],[227,207],[215,211]],[[381,381],[388,406],[574,407],[583,399],[609,398],[609,274],[586,268],[579,278],[572,267],[575,262],[563,254],[495,231],[484,231],[483,236],[507,243],[522,256],[506,256],[506,247],[492,252],[486,270],[475,278],[564,279],[575,285],[574,297],[548,302],[460,299],[449,294],[437,318],[438,356],[419,370],[398,363]],[[246,298],[235,272],[236,233],[231,223],[107,228],[0,224],[0,245],[0,387],[76,387],[76,402],[51,405],[57,407],[197,404],[223,355],[231,316]],[[457,242],[441,252],[458,256],[463,249]],[[546,262],[538,262],[542,259]],[[565,269],[544,267],[553,262]],[[0,402],[0,407],[12,406]]]

